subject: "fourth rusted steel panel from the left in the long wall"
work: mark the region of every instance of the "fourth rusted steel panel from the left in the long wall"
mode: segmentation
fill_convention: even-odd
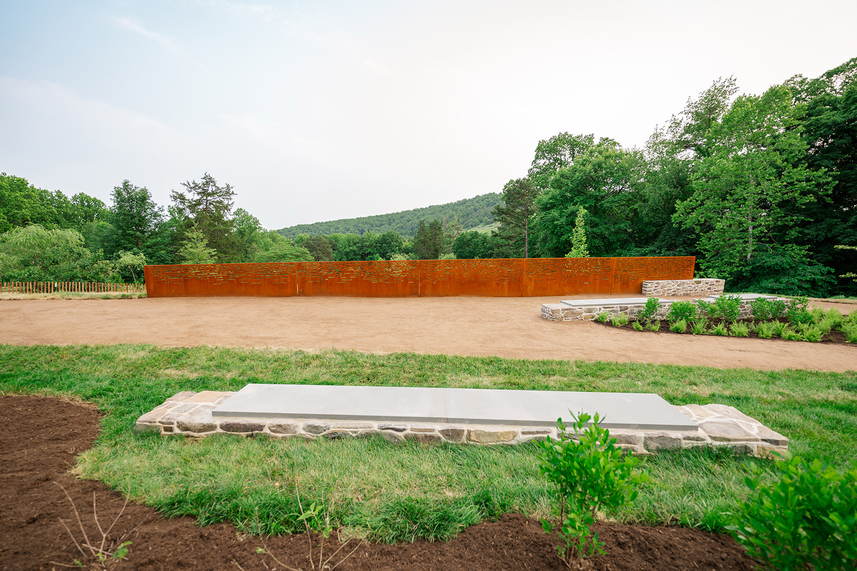
[[[614,258],[528,258],[524,297],[609,294]]]

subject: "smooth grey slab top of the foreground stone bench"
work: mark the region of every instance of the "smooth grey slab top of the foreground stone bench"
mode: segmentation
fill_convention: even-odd
[[[249,384],[217,406],[214,418],[324,418],[375,422],[554,426],[569,410],[598,412],[607,428],[696,430],[657,394],[479,388],[341,387]]]

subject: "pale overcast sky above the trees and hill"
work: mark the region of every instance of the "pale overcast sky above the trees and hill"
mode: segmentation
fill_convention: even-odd
[[[720,76],[857,56],[857,2],[0,0],[0,171],[166,204],[210,172],[267,228],[500,191],[561,131],[643,145]]]

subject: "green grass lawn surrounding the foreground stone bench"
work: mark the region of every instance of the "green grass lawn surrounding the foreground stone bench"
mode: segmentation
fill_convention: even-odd
[[[291,532],[297,493],[337,525],[382,541],[451,538],[504,512],[549,514],[531,445],[305,442],[137,433],[135,419],[183,390],[248,382],[653,392],[674,405],[722,403],[791,439],[790,449],[845,466],[857,460],[857,373],[721,370],[654,364],[529,361],[399,353],[155,346],[0,346],[0,392],[65,395],[105,413],[78,461],[96,478],[168,515]],[[651,481],[622,521],[721,530],[746,496],[746,458],[686,450],[644,459]],[[763,460],[763,463],[765,461]]]

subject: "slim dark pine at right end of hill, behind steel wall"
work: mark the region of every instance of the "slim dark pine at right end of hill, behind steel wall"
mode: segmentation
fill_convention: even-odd
[[[494,219],[500,227],[494,237],[500,242],[503,257],[530,257],[530,225],[536,213],[539,190],[529,178],[510,180],[503,187],[503,201],[494,207]]]

